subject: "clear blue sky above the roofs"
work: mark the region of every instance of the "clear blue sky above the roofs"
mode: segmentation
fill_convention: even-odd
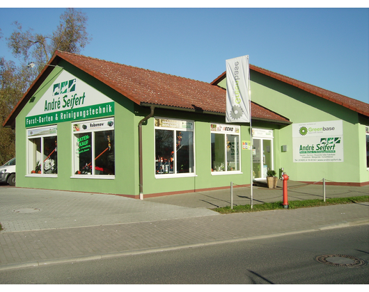
[[[77,8],[93,38],[85,56],[211,82],[226,59],[250,63],[369,103],[369,8]],[[52,33],[65,8],[0,8],[6,38]],[[252,99],[252,88],[251,88]]]

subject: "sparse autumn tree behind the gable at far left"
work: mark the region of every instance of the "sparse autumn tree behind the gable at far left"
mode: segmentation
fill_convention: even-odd
[[[0,58],[1,124],[56,50],[79,54],[86,47],[91,40],[86,31],[86,22],[85,13],[67,8],[61,15],[56,30],[49,35],[34,33],[33,29],[23,31],[22,24],[13,23],[15,30],[6,40],[20,65],[16,66],[13,61]],[[27,67],[31,61],[36,64],[32,70]],[[0,127],[0,165],[13,158],[14,154],[14,131]]]

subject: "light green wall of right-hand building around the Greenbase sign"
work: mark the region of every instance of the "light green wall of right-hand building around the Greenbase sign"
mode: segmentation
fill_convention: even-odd
[[[293,123],[343,120],[344,162],[294,163],[292,160],[292,125],[274,131],[275,165],[284,168],[290,179],[363,183],[369,181],[366,169],[365,126],[358,113],[327,99],[317,97],[276,79],[251,73],[251,99]],[[366,121],[368,122],[368,120]],[[288,151],[281,152],[281,145]]]

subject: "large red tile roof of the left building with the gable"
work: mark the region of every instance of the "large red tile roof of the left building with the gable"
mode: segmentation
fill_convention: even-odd
[[[139,105],[169,106],[214,114],[226,113],[226,90],[210,83],[63,51],[56,51],[48,64],[56,65],[61,59],[94,76]],[[45,66],[3,123],[4,127],[15,127],[17,113],[22,110],[24,104],[51,72],[50,68],[52,67]],[[256,120],[290,123],[287,118],[253,102],[251,115]]]

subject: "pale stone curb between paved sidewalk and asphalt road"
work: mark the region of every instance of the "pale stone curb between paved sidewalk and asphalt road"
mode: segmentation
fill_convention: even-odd
[[[134,255],[134,254],[148,254],[152,252],[166,252],[170,250],[180,250],[183,248],[198,248],[202,246],[207,245],[217,245],[221,243],[235,243],[238,241],[250,241],[255,239],[262,239],[262,238],[272,238],[272,237],[278,237],[278,236],[286,236],[286,235],[292,235],[292,234],[301,234],[301,233],[307,233],[307,232],[316,232],[320,230],[328,230],[328,229],[336,229],[336,228],[343,228],[343,227],[350,227],[350,226],[357,226],[357,225],[367,225],[369,224],[369,219],[359,219],[354,220],[351,222],[338,222],[327,226],[317,227],[317,228],[311,228],[311,229],[304,229],[304,230],[297,230],[293,232],[279,232],[275,234],[265,234],[265,235],[259,235],[259,236],[242,236],[242,237],[235,237],[235,238],[229,238],[229,239],[221,239],[217,241],[207,241],[203,243],[190,243],[186,245],[171,245],[161,248],[148,248],[144,250],[127,250],[125,252],[111,252],[106,254],[94,254],[94,255],[88,255],[88,256],[79,256],[79,257],[67,257],[62,259],[49,259],[45,261],[29,261],[25,263],[10,263],[8,265],[0,265],[0,271],[1,270],[12,270],[15,268],[32,268],[32,267],[39,267],[39,266],[46,266],[46,265],[52,265],[52,264],[58,264],[58,263],[77,263],[80,261],[91,261],[95,259],[109,259],[111,257],[124,257],[128,255]]]

